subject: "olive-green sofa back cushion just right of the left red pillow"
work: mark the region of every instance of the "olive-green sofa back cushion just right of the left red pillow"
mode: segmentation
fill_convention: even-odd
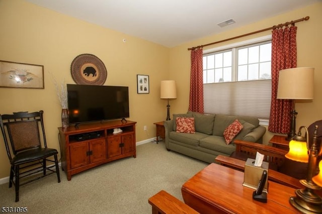
[[[196,132],[212,135],[215,115],[212,115],[212,114],[205,115],[198,112],[190,112],[190,111],[188,112],[188,114],[192,114],[193,117],[195,118]]]

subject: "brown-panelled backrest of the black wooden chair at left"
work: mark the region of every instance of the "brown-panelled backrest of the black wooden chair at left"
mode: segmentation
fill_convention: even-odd
[[[47,147],[43,125],[43,111],[18,112],[13,115],[0,115],[0,126],[6,144],[8,157],[32,148]]]

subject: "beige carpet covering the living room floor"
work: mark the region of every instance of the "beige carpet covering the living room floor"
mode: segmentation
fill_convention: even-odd
[[[151,213],[148,198],[166,190],[180,200],[181,186],[208,164],[168,152],[164,142],[136,147],[130,157],[76,174],[67,181],[60,171],[20,188],[0,185],[2,206],[26,206],[28,213]]]

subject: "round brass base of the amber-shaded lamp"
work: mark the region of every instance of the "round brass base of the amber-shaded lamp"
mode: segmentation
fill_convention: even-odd
[[[322,198],[310,189],[296,189],[289,202],[302,213],[322,213]]]

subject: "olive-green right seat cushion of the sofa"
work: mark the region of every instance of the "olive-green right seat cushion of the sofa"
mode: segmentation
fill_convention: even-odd
[[[208,137],[201,139],[199,142],[199,146],[226,155],[230,155],[236,149],[236,146],[234,144],[231,143],[227,145],[223,137],[214,135],[208,135]]]

